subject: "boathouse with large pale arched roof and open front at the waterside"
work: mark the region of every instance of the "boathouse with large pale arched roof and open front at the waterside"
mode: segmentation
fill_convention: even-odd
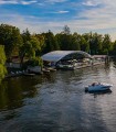
[[[92,58],[92,56],[82,51],[54,51],[42,56],[45,66],[59,65],[74,65],[74,63],[82,63],[84,58]]]

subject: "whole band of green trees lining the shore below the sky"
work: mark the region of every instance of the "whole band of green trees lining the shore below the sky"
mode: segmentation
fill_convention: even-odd
[[[116,41],[112,42],[109,34],[98,33],[71,33],[67,25],[61,33],[31,34],[27,29],[22,33],[13,25],[0,25],[0,78],[7,74],[4,64],[18,56],[21,66],[24,58],[27,64],[41,65],[41,55],[52,51],[84,51],[92,55],[116,55]]]

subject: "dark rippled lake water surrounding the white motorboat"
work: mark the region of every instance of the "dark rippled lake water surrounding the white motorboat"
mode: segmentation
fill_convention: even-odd
[[[114,86],[86,94],[93,81]],[[116,132],[116,63],[4,80],[0,132]]]

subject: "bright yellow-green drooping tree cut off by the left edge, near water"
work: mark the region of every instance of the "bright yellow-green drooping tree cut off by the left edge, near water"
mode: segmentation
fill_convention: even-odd
[[[7,69],[6,69],[4,64],[6,64],[4,47],[2,45],[0,45],[0,80],[7,74]]]

